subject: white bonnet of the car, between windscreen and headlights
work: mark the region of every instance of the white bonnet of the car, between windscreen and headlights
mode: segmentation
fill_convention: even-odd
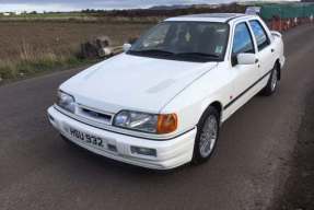
[[[79,104],[109,113],[160,113],[177,93],[210,71],[216,62],[184,62],[120,54],[60,86]]]

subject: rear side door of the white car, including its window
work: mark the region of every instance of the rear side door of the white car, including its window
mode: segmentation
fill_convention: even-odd
[[[274,57],[275,49],[271,48],[270,38],[263,24],[258,20],[252,20],[248,23],[257,46],[256,54],[259,60],[259,78],[263,78],[274,68],[276,59]]]

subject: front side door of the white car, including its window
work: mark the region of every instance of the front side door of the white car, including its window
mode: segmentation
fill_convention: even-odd
[[[237,23],[234,27],[233,44],[232,44],[232,73],[234,74],[233,80],[233,92],[230,96],[231,102],[226,105],[230,106],[230,112],[233,113],[247,102],[253,94],[249,94],[252,85],[258,80],[258,63],[254,65],[239,65],[239,54],[255,54],[256,48],[254,39],[249,31],[247,22]],[[257,61],[257,60],[256,60]]]

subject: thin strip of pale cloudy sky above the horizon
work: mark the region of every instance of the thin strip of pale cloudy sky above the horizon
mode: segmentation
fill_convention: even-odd
[[[112,10],[150,8],[152,5],[226,3],[231,1],[233,0],[0,0],[0,12]]]

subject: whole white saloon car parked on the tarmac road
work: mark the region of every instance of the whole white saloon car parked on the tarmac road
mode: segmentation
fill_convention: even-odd
[[[219,129],[284,63],[280,33],[256,15],[171,18],[125,52],[66,81],[49,120],[96,154],[155,170],[202,163]]]

